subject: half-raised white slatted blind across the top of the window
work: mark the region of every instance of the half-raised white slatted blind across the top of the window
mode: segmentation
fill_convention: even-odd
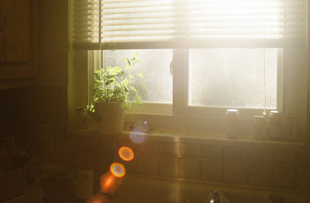
[[[306,3],[75,0],[73,49],[303,46]]]

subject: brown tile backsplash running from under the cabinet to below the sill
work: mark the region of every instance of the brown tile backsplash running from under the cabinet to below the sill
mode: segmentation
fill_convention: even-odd
[[[162,133],[147,134],[144,142],[137,144],[131,141],[129,132],[103,136],[95,130],[68,130],[65,87],[2,90],[0,96],[2,120],[17,111],[29,124],[25,128],[27,137],[32,146],[38,146],[33,147],[33,153],[64,153],[74,157],[81,169],[94,170],[98,175],[109,170],[112,162],[120,162],[127,173],[162,179],[310,191],[308,145]],[[122,146],[134,151],[133,160],[119,158],[117,152]]]

